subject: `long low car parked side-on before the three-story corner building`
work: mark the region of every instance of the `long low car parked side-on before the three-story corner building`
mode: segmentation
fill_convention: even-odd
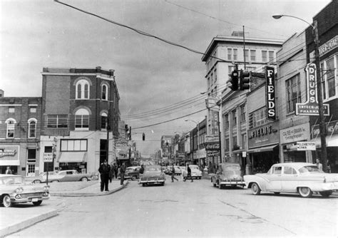
[[[53,175],[48,174],[48,182],[75,182],[92,180],[93,175],[88,173],[79,173],[76,170],[61,170]]]

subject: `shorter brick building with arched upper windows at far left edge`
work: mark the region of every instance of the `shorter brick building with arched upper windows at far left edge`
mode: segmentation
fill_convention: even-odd
[[[0,97],[0,173],[39,174],[42,98]]]

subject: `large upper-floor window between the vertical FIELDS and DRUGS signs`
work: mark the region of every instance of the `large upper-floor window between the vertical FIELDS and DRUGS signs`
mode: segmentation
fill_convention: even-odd
[[[287,113],[295,112],[296,103],[301,103],[302,95],[300,92],[299,74],[285,81]]]

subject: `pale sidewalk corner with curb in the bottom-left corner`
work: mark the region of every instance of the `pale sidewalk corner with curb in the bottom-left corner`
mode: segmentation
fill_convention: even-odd
[[[30,227],[45,219],[49,219],[58,214],[56,209],[41,207],[1,207],[0,237],[6,237],[9,234]]]

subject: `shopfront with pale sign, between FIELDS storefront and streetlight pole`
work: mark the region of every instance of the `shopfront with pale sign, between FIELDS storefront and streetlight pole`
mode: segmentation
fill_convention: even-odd
[[[314,162],[311,151],[316,148],[309,139],[309,123],[280,130],[280,161]]]

